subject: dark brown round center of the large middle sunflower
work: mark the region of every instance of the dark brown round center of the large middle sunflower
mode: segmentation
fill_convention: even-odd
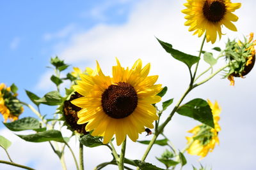
[[[101,96],[104,112],[111,118],[125,118],[131,115],[138,104],[137,93],[129,83],[110,85]]]

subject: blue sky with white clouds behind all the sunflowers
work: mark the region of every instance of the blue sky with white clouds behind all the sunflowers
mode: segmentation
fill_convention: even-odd
[[[55,90],[49,78],[53,71],[50,66],[51,57],[58,55],[60,59],[72,67],[95,68],[95,60],[99,61],[102,70],[111,74],[111,66],[118,57],[122,66],[131,67],[137,59],[143,64],[151,63],[150,74],[158,74],[158,83],[168,87],[163,101],[179,97],[189,83],[187,67],[170,57],[157,42],[155,36],[171,43],[174,48],[192,55],[198,55],[202,38],[192,36],[188,27],[184,26],[183,3],[173,0],[116,0],[116,1],[2,1],[0,5],[0,83],[10,86],[15,83],[19,87],[19,99],[30,103],[25,89],[42,97],[45,93]],[[232,1],[241,2],[241,1]],[[237,32],[223,29],[223,37],[214,45],[205,43],[204,50],[211,51],[214,46],[225,47],[227,38],[243,38],[250,32],[255,32],[255,14],[252,13],[256,1],[244,0],[241,9],[235,14]],[[216,53],[214,53],[216,54]],[[216,57],[216,55],[215,55]],[[218,67],[225,64],[221,60]],[[204,71],[208,65],[200,62],[199,71]],[[67,73],[67,71],[65,73]],[[237,78],[235,87],[230,87],[229,81],[221,79],[218,74],[208,83],[193,90],[184,103],[200,97],[215,100],[220,104],[221,132],[220,145],[214,152],[201,160],[204,166],[212,169],[255,169],[255,96],[256,69],[246,78]],[[65,83],[62,88],[68,87]],[[174,104],[173,104],[174,105]],[[172,106],[165,111],[166,117]],[[42,107],[42,113],[51,115],[54,107]],[[22,117],[35,117],[25,108]],[[0,118],[3,121],[3,118]],[[174,115],[172,122],[165,129],[165,134],[171,139],[177,149],[186,145],[184,136],[189,136],[189,129],[200,124],[191,118]],[[19,132],[29,134],[31,132]],[[14,162],[31,166],[35,169],[61,169],[58,157],[52,152],[48,143],[28,143],[22,141],[3,124],[0,125],[0,135],[12,141],[9,153]],[[68,136],[68,132],[64,132]],[[150,139],[141,134],[140,138]],[[74,151],[78,153],[78,141],[71,140]],[[127,157],[141,159],[146,146],[129,141]],[[117,148],[120,150],[120,148]],[[147,157],[159,167],[164,167],[155,156],[159,157],[166,147],[154,146]],[[66,150],[68,169],[75,169],[70,152]],[[1,160],[7,160],[4,150],[1,150]],[[199,157],[185,154],[188,164],[183,169],[192,169],[193,164],[200,166]],[[85,169],[93,169],[97,164],[111,160],[108,148],[84,148]],[[108,166],[106,169],[115,167]],[[117,167],[116,167],[117,168]],[[19,169],[0,164],[0,169]]]

